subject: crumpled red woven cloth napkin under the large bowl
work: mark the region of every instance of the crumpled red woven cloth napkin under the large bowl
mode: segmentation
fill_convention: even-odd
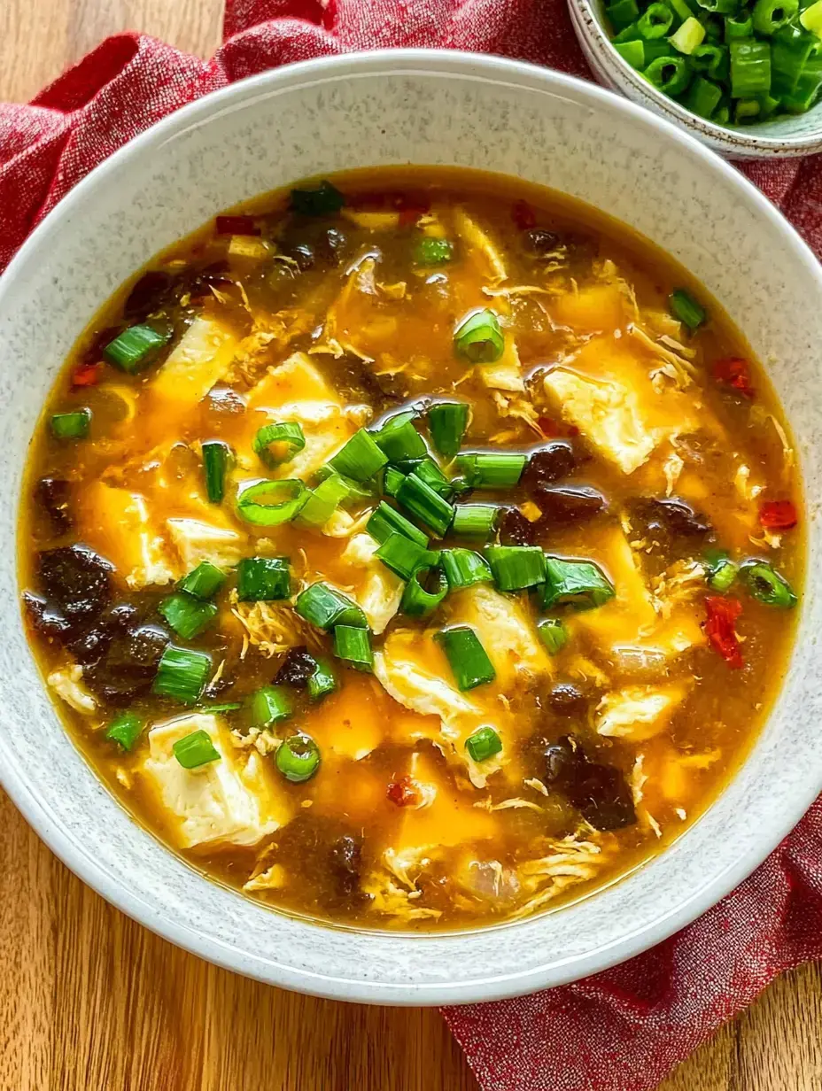
[[[378,46],[501,53],[587,76],[564,0],[228,0],[211,61],[122,34],[0,106],[0,267],[92,167],[184,103],[277,64]],[[822,156],[748,175],[822,254]],[[484,1091],[648,1091],[773,978],[822,957],[822,799],[739,889],[645,955],[445,1019]]]

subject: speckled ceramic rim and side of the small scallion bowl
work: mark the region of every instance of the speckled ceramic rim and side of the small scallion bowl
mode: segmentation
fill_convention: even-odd
[[[568,0],[568,4],[571,23],[577,37],[596,52],[599,63],[608,70],[617,83],[628,84],[640,100],[645,100],[652,109],[659,110],[676,124],[699,133],[701,140],[720,149],[725,155],[785,159],[822,152],[822,121],[815,135],[808,133],[799,136],[769,136],[760,131],[748,132],[744,129],[718,125],[699,117],[680,103],[664,95],[620,57],[597,14],[597,0]]]

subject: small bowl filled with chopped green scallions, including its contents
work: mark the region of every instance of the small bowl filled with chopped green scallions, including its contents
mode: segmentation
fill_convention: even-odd
[[[822,152],[822,0],[569,0],[597,77],[731,158]]]

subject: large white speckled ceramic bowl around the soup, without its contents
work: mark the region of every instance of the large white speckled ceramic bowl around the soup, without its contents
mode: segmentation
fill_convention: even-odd
[[[743,769],[666,853],[585,901],[449,935],[329,927],[213,884],[136,826],[76,752],[44,692],[17,608],[21,470],[43,400],[99,303],[157,250],[241,199],[383,164],[492,168],[613,216],[692,269],[770,364],[820,494],[822,275],[736,170],[589,83],[490,57],[373,52],[294,64],[186,107],[95,170],[0,285],[0,770],[44,840],[166,938],[272,984],[386,1004],[526,993],[670,935],[744,878],[822,788],[822,602],[810,584],[789,678]],[[664,194],[664,200],[659,195]],[[810,570],[820,563],[817,513]]]

